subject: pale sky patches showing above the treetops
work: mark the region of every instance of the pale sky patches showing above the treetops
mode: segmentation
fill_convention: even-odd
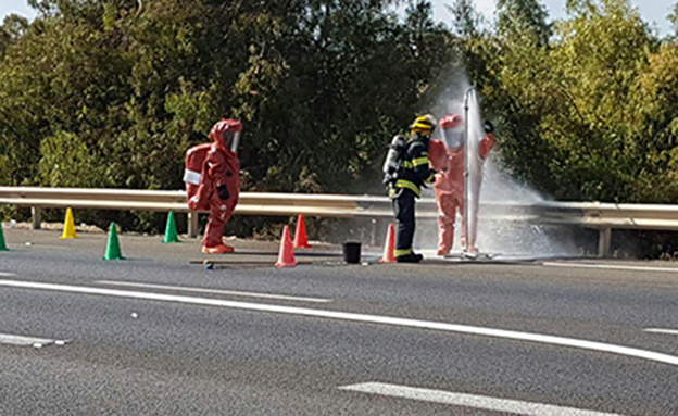
[[[631,0],[631,4],[640,10],[643,20],[649,22],[658,35],[664,36],[670,33],[670,22],[666,16],[676,1],[678,0]],[[565,16],[565,0],[541,0],[541,2],[547,7],[551,18]],[[445,4],[452,3],[452,0],[432,0],[432,3],[434,17],[437,21],[450,22],[451,14]],[[490,21],[494,15],[494,3],[495,0],[475,0],[476,10]],[[0,21],[10,13],[35,16],[35,11],[28,7],[26,0],[0,0]]]

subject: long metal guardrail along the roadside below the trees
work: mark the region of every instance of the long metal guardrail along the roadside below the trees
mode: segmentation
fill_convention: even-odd
[[[198,235],[198,212],[189,211],[184,190],[0,187],[0,204],[32,209],[33,226],[40,227],[40,211],[73,207],[114,211],[175,211],[188,214],[188,234]],[[372,218],[392,217],[387,197],[242,192],[238,215]],[[436,201],[424,198],[417,217],[435,219]],[[480,217],[541,225],[576,225],[600,231],[599,255],[610,254],[612,229],[678,230],[678,205],[544,202],[540,204],[485,203]]]

